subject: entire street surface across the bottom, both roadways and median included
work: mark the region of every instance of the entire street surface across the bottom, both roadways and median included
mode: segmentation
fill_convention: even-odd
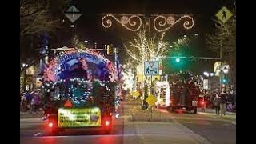
[[[161,110],[161,120],[130,121],[129,111],[138,104],[122,102],[121,116],[114,118],[112,134],[73,130],[50,135],[41,118],[21,118],[21,143],[235,143],[235,115],[183,114]],[[159,112],[158,112],[159,113]],[[142,116],[142,114],[141,114]],[[153,114],[158,116],[157,113]],[[169,120],[166,120],[169,119]]]

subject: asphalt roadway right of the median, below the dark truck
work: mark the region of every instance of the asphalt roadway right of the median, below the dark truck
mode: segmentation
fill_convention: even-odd
[[[194,133],[201,135],[211,143],[234,144],[236,143],[236,115],[226,114],[225,116],[216,116],[214,113],[188,114],[184,112],[170,113],[170,118],[186,126]]]

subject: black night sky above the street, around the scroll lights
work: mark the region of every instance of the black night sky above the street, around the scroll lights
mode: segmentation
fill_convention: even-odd
[[[206,33],[212,33],[214,30],[214,23],[212,19],[215,14],[226,6],[232,9],[232,0],[152,0],[152,1],[114,1],[114,0],[77,0],[73,1],[74,5],[82,12],[82,16],[75,22],[75,34],[79,38],[89,40],[90,42],[97,42],[98,46],[104,44],[114,44],[124,54],[123,42],[127,39],[134,38],[134,32],[130,32],[122,28],[117,22],[109,29],[102,26],[102,14],[192,14],[194,18],[194,27],[191,30],[184,30],[181,28],[182,23],[176,24],[173,28],[166,32],[166,38],[175,39],[180,38],[183,34],[193,35],[198,33],[199,38],[204,37]],[[67,7],[68,8],[68,7]],[[65,16],[63,15],[63,18]],[[67,46],[69,39],[73,36],[70,22],[65,18],[66,30],[62,30],[58,35],[58,45]],[[214,56],[206,50],[204,41],[199,39],[198,46],[194,46],[197,56],[211,57]],[[123,59],[120,58],[123,62]],[[205,62],[204,62],[205,63]],[[207,67],[208,66],[208,67]],[[213,70],[212,65],[207,65],[205,69]],[[200,67],[198,67],[200,68]],[[195,67],[195,69],[198,69]],[[201,70],[199,70],[201,71]]]

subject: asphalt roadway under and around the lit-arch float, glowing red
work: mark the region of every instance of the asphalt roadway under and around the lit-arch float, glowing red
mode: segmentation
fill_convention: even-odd
[[[50,134],[46,122],[37,116],[21,117],[20,119],[20,143],[134,143],[137,137],[134,126],[125,124],[126,116],[123,114],[124,105],[120,106],[120,116],[113,118],[113,130],[111,134],[102,134],[98,130],[66,130],[58,136]],[[124,140],[125,139],[125,140]]]

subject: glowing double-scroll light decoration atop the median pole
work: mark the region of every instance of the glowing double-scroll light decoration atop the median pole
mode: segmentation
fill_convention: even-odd
[[[147,22],[150,22],[150,18],[153,18],[154,30],[158,32],[170,30],[170,28],[182,20],[185,20],[183,27],[186,30],[194,26],[194,19],[188,14],[151,14],[150,18],[146,17],[145,14],[104,14],[102,17],[102,26],[110,28],[113,26],[112,19],[114,19],[127,30],[138,31],[142,26],[142,18],[146,20],[146,24],[150,24]]]

